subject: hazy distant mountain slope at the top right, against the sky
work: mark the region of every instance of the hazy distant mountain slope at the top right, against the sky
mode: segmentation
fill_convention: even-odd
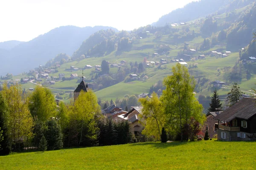
[[[206,17],[209,14],[222,14],[237,8],[242,8],[255,0],[200,0],[192,2],[166,14],[153,23],[152,26],[165,26],[172,23],[185,23],[190,20]]]

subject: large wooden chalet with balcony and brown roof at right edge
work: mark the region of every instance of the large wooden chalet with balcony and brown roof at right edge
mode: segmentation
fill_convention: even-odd
[[[245,141],[256,139],[256,99],[243,98],[215,116],[218,140]],[[221,125],[219,122],[223,121]]]

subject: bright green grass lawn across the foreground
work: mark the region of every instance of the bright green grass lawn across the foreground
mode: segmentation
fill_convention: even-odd
[[[1,156],[9,169],[255,169],[256,142],[136,143]]]

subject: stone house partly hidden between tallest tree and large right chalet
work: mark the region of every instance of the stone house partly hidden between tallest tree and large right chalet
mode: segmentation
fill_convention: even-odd
[[[209,137],[213,138],[214,135],[217,134],[217,130],[215,129],[215,123],[218,123],[218,120],[215,117],[220,114],[222,111],[219,112],[209,112],[206,115],[206,121],[202,127],[202,132],[205,133],[208,131]]]

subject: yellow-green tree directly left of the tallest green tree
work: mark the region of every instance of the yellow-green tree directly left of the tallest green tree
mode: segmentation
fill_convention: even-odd
[[[162,103],[155,92],[152,94],[152,98],[140,98],[139,102],[143,106],[142,115],[145,119],[145,122],[142,121],[145,126],[142,133],[146,136],[154,136],[157,140],[160,140],[160,130],[163,128],[165,121]]]

